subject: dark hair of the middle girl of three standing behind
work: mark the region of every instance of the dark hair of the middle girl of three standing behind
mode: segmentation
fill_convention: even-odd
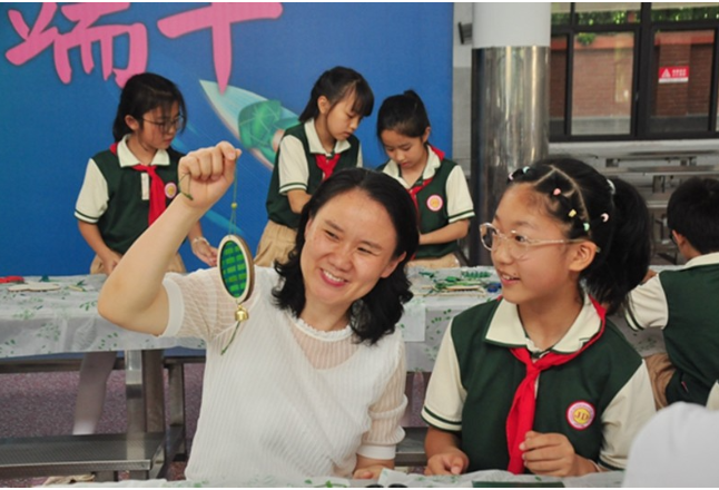
[[[355,95],[353,110],[362,117],[370,116],[374,107],[374,94],[372,94],[367,80],[352,68],[334,67],[325,71],[315,81],[309,94],[309,101],[299,115],[299,122],[306,122],[319,116],[319,107],[317,107],[319,97],[325,96],[329,100],[331,107],[335,107],[345,97],[353,94]]]

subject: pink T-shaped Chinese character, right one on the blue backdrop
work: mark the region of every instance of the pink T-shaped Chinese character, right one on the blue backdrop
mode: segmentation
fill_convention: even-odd
[[[171,39],[201,29],[213,30],[213,60],[221,92],[227,87],[233,66],[230,26],[248,20],[276,19],[282,10],[279,2],[210,2],[209,7],[161,19],[157,27]]]

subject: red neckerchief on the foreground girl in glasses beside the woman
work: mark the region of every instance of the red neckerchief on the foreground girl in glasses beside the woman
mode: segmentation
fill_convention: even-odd
[[[524,460],[522,459],[522,451],[520,444],[524,442],[526,433],[532,430],[534,424],[534,411],[536,409],[536,379],[540,373],[555,365],[564,364],[579,354],[584,352],[604,333],[604,325],[607,324],[607,311],[597,301],[590,296],[594,310],[602,321],[599,332],[588,342],[582,349],[571,354],[558,354],[549,352],[536,362],[532,362],[532,356],[526,347],[513,347],[510,352],[519,359],[526,366],[526,376],[514,393],[514,401],[506,418],[506,443],[510,451],[510,464],[508,470],[514,474],[524,472]]]

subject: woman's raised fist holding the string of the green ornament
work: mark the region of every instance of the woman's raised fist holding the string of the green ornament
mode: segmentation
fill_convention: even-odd
[[[235,164],[240,154],[229,143],[220,141],[180,158],[177,171],[185,205],[207,210],[217,203],[235,179]]]

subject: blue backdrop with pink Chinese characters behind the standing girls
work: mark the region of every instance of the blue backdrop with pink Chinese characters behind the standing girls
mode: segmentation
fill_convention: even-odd
[[[272,99],[284,115],[299,114],[324,70],[348,66],[375,94],[357,130],[366,166],[385,159],[374,136],[380,104],[407,88],[427,106],[432,143],[451,149],[452,3],[93,6],[0,3],[0,276],[89,270],[75,200],[88,158],[112,143],[120,85],[131,72],[166,76],[185,95],[189,124],[178,150],[220,139],[246,150],[238,227],[253,249],[267,218],[270,168],[238,137],[246,105]],[[203,218],[215,245],[229,210],[226,196]],[[181,252],[188,270],[203,265],[187,245]]]

